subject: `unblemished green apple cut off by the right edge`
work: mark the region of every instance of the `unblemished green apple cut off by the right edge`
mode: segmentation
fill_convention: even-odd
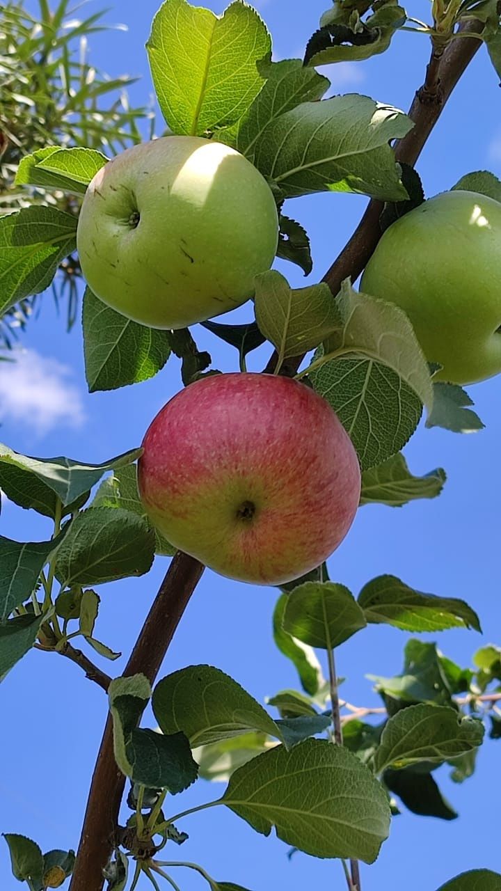
[[[501,204],[444,192],[390,225],[360,282],[415,328],[434,380],[472,384],[501,372]]]

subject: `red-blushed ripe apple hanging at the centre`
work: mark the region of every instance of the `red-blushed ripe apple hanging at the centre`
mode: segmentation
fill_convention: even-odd
[[[296,380],[218,374],[152,421],[138,463],[162,535],[222,576],[282,584],[341,544],[360,500],[357,453],[327,402]]]

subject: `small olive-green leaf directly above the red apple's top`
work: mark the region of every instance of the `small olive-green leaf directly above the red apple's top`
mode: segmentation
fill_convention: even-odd
[[[317,347],[342,322],[332,292],[324,282],[292,289],[274,269],[257,275],[254,304],[256,321],[284,359],[300,356]]]

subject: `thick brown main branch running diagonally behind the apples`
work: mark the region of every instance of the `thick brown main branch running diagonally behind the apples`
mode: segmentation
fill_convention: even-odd
[[[474,30],[475,24],[470,22],[468,29]],[[481,27],[479,23],[477,30]],[[448,46],[438,68],[441,100],[435,104],[427,104],[421,102],[416,94],[409,111],[415,127],[398,144],[396,150],[398,160],[407,161],[408,164],[415,163],[439,119],[448,96],[479,45],[480,41],[477,43],[473,38],[458,38]],[[348,275],[352,280],[357,278],[374,251],[380,238],[381,210],[381,202],[374,200],[370,202],[356,232],[340,257],[325,274],[324,281],[329,284],[334,294],[337,294],[342,280]],[[293,373],[301,358],[299,356],[297,360],[288,363],[283,368],[283,373]],[[275,362],[272,357],[265,371],[273,372],[274,369]],[[185,554],[178,553],[172,560],[124,674],[142,672],[151,682],[154,680],[202,571],[201,564]],[[95,765],[70,891],[101,891],[103,888],[103,867],[114,844],[124,786],[125,777],[119,772],[113,756],[112,727],[108,719]]]

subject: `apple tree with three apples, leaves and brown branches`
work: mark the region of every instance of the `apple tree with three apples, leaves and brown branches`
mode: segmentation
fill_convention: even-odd
[[[57,53],[70,65],[68,44],[53,37],[67,5],[40,8],[35,32],[21,4],[2,11],[11,35],[28,41],[26,64],[35,60],[35,103],[37,78],[59,76]],[[324,65],[391,52],[404,28],[431,45],[407,114],[384,97],[325,98]],[[501,73],[500,33],[490,0],[433,0],[428,22],[385,0],[335,0],[305,36],[302,59],[272,61],[271,35],[250,5],[235,0],[216,16],[165,0],[146,49],[168,135],[141,143],[135,116],[118,106],[106,135],[95,135],[85,103],[75,125],[71,93],[45,110],[59,117],[40,130],[37,116],[22,117],[11,65],[1,312],[45,292],[70,257],[86,280],[91,393],[180,360],[179,392],[125,454],[95,464],[0,446],[3,494],[47,523],[43,541],[0,537],[0,676],[13,683],[11,669],[33,648],[39,658],[56,653],[102,688],[109,711],[77,854],[57,839],[44,853],[3,827],[13,876],[31,891],[67,879],[71,891],[164,880],[177,888],[177,868],[197,871],[212,891],[244,891],[177,856],[185,818],[213,807],[249,831],[275,829],[292,850],[339,861],[338,883],[362,891],[370,870],[361,864],[391,844],[398,807],[447,819],[435,768],[450,764],[464,780],[486,728],[501,736],[495,644],[462,668],[413,637],[401,674],[373,679],[380,707],[342,699],[342,645],[356,635],[363,648],[368,625],[478,632],[480,617],[474,602],[389,574],[355,596],[326,563],[365,504],[393,509],[440,494],[445,472],[415,477],[401,450],[423,412],[428,427],[480,429],[462,385],[501,372],[501,183],[465,171],[453,190],[425,200],[415,168],[474,54],[487,48]],[[7,59],[12,40],[0,36]],[[80,98],[92,109],[86,86]],[[322,281],[294,289],[270,267],[276,256],[311,273],[294,199],[314,192],[369,202]],[[439,238],[451,246],[447,262]],[[247,302],[250,321],[213,321]],[[193,323],[234,347],[233,372],[210,367]],[[263,373],[248,372],[246,357],[266,343]],[[168,558],[167,571],[113,676],[103,660],[119,654],[99,636],[94,589],[146,576],[156,558]],[[270,645],[292,661],[300,689],[278,692],[268,708],[213,665],[159,677],[206,566],[235,585],[275,588]],[[150,705],[154,722],[144,719]],[[223,779],[219,797],[183,805],[195,781]],[[430,891],[479,889],[500,891],[501,874],[472,863]]]

